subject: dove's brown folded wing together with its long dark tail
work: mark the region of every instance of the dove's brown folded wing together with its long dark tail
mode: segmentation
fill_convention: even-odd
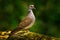
[[[20,22],[18,27],[11,32],[11,34],[9,36],[14,35],[14,33],[20,31],[21,29],[24,29],[29,24],[31,24],[31,22],[32,22],[31,18],[29,18],[29,17],[25,18],[24,20],[22,20],[22,22]]]

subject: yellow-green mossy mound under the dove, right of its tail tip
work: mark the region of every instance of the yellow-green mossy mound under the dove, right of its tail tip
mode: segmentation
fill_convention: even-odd
[[[59,40],[59,39],[55,37],[48,37],[42,34],[37,34],[34,32],[19,31],[18,33],[15,33],[11,37],[9,37],[8,40]]]

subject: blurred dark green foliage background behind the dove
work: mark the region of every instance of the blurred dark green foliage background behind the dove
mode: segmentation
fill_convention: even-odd
[[[60,37],[60,0],[0,0],[0,31],[14,30],[35,5],[35,24],[30,31]]]

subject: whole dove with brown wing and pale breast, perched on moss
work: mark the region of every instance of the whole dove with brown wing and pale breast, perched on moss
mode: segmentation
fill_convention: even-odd
[[[14,35],[14,33],[20,31],[21,29],[25,29],[26,31],[33,26],[35,23],[35,15],[33,13],[33,9],[35,9],[34,5],[29,5],[27,16],[19,23],[16,29],[14,29],[9,36]]]

